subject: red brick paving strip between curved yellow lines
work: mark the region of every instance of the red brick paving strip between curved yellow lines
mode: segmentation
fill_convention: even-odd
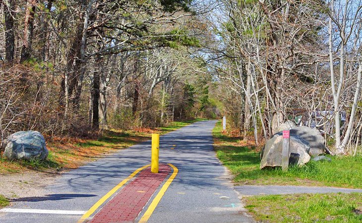
[[[171,167],[166,164],[159,166],[159,173],[151,173],[151,167],[142,170],[89,223],[134,222],[170,172]]]

